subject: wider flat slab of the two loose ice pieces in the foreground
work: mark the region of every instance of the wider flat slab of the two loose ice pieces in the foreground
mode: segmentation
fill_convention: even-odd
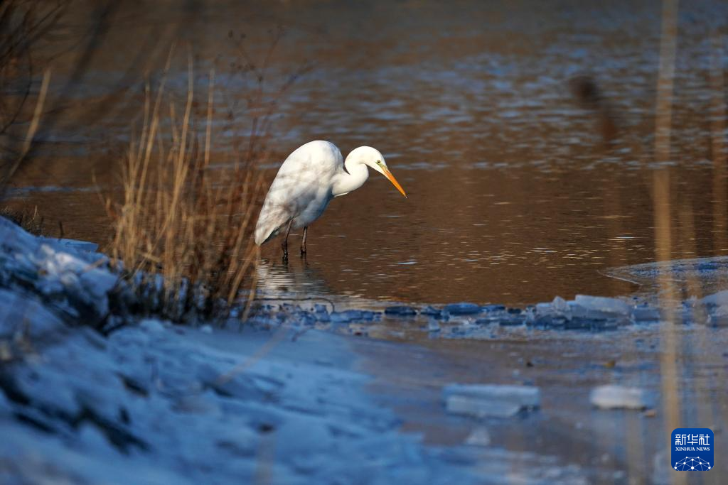
[[[448,412],[478,418],[511,417],[541,402],[539,388],[531,385],[452,384],[443,396]]]

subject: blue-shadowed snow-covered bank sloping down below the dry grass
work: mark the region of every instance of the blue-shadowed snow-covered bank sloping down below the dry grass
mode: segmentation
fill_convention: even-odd
[[[482,481],[398,432],[342,337],[146,319],[104,338],[78,325],[108,313],[100,255],[4,219],[0,246],[2,483]]]

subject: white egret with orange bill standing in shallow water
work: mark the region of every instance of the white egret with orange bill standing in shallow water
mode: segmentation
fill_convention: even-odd
[[[301,254],[306,253],[308,226],[323,214],[334,197],[360,188],[369,177],[371,167],[389,179],[403,196],[407,196],[379,151],[368,146],[356,148],[347,159],[336,145],[315,140],[296,148],[285,159],[266,195],[258,223],[256,244],[260,246],[285,231],[281,246],[288,256],[291,228],[304,228]]]

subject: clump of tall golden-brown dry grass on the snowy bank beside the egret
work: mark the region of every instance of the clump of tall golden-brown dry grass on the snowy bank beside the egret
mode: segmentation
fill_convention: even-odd
[[[111,256],[123,262],[141,310],[174,321],[223,316],[246,283],[254,286],[257,247],[250,233],[261,180],[245,155],[210,167],[213,84],[210,72],[204,134],[195,131],[191,68],[181,117],[165,101],[164,81],[154,99],[147,86],[141,134],[122,164],[123,201],[107,202],[115,229]],[[163,123],[169,133],[162,133]]]

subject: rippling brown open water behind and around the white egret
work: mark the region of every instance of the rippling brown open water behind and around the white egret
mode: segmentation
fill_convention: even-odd
[[[726,201],[713,195],[711,152],[711,106],[724,93],[710,88],[725,70],[725,13],[718,1],[681,5],[668,167],[681,257],[728,252],[714,232]],[[266,246],[282,284],[289,278],[367,299],[513,305],[626,294],[636,286],[599,271],[654,260],[658,1],[167,1],[122,5],[111,19],[80,79],[68,82],[75,51],[55,60],[51,106],[63,109],[43,133],[41,158],[15,183],[16,203],[37,205],[52,228],[62,220],[67,237],[108,241],[92,175],[114,193],[114,163],[140,119],[141,81],[145,73],[158,79],[170,41],[180,41],[173,89],[183,92],[190,49],[197,92],[218,66],[223,110],[244,106],[250,92],[226,72],[237,55],[228,32],[245,31],[250,56],[261,60],[266,29],[284,25],[270,89],[304,61],[313,68],[277,108],[271,180],[306,141],[330,140],[344,155],[366,144],[384,153],[408,199],[373,175],[312,225],[305,263],[296,256],[277,265],[279,246]],[[722,49],[717,70],[713,32]],[[572,91],[569,79],[582,73],[603,94],[596,109]],[[221,163],[244,125],[216,138]]]

